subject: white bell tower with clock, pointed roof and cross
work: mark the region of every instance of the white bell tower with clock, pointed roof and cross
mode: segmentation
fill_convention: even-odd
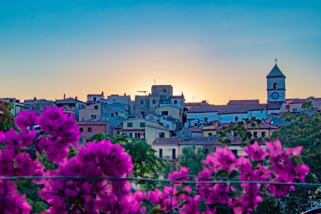
[[[276,65],[266,76],[267,79],[267,103],[285,103],[285,76]]]

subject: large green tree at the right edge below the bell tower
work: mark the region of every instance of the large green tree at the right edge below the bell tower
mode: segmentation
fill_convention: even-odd
[[[304,103],[303,108],[310,108],[309,102]],[[321,112],[316,112],[309,117],[307,114],[285,113],[283,119],[291,124],[281,126],[275,130],[270,141],[280,139],[284,147],[302,146],[301,158],[310,167],[310,173],[305,176],[308,183],[321,182]],[[307,199],[321,199],[321,194],[314,188],[301,188],[291,192],[292,197]],[[309,206],[308,201],[301,201],[304,206]],[[297,200],[288,200],[292,210],[297,209]]]

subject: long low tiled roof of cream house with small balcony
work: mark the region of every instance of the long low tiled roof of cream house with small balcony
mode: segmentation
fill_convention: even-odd
[[[240,145],[241,141],[236,137],[229,137],[231,140],[231,145]],[[221,145],[219,138],[216,135],[211,137],[202,138],[156,138],[152,145]]]

